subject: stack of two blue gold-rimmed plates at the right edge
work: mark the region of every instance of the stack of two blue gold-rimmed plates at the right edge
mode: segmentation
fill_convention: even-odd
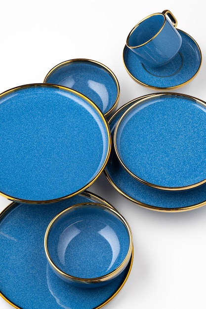
[[[110,183],[140,206],[160,211],[206,204],[206,103],[156,93],[125,104],[109,120]]]

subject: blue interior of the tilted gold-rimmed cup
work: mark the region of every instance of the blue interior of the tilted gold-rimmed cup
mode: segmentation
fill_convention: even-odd
[[[161,30],[165,22],[163,15],[153,15],[140,22],[132,31],[128,43],[130,46],[139,46],[145,44],[155,37]]]

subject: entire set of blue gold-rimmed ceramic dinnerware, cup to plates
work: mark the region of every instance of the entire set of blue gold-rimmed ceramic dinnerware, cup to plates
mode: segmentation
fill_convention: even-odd
[[[130,77],[170,90],[198,74],[201,50],[176,26],[169,10],[135,25],[123,50]],[[102,172],[142,207],[206,204],[206,103],[157,92],[117,109],[119,97],[114,73],[89,59],[0,94],[0,194],[12,201],[0,214],[0,295],[17,309],[97,309],[123,287],[132,232],[86,191]]]

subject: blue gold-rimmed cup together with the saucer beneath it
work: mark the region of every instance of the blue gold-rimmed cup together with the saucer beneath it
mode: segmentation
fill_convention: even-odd
[[[158,90],[181,87],[196,77],[202,63],[200,47],[176,27],[176,18],[165,10],[146,17],[131,30],[123,52],[130,77]]]

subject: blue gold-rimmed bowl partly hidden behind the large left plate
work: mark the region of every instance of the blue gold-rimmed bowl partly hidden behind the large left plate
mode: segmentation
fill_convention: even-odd
[[[93,101],[107,115],[119,99],[119,83],[112,72],[102,64],[74,59],[57,65],[44,82],[75,89]]]

